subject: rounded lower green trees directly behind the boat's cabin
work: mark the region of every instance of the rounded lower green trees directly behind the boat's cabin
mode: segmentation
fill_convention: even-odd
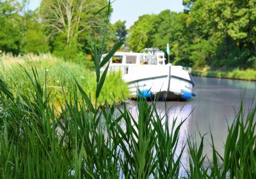
[[[164,10],[158,15],[144,15],[131,27],[127,42],[133,51],[142,51],[146,47],[158,47],[165,51],[169,42],[171,59],[175,63],[179,61],[179,65],[182,61],[188,63],[188,19],[188,14],[170,10]]]

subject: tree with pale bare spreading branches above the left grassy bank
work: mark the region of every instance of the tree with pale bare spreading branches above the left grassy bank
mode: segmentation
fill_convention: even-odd
[[[82,50],[90,52],[90,22],[92,20],[92,28],[99,32],[102,18],[100,15],[92,17],[107,4],[107,0],[43,0],[40,17],[47,27],[54,54],[72,58]]]

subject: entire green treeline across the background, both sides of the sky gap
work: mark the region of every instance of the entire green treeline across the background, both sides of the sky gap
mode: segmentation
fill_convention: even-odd
[[[93,58],[92,29],[99,37],[100,26],[104,26],[108,52],[125,40],[127,29],[125,22],[111,24],[107,9],[94,16],[107,4],[108,0],[42,0],[31,11],[28,0],[0,0],[0,51],[15,55],[51,52],[67,60],[85,61]],[[165,51],[169,42],[175,65],[256,69],[255,0],[184,0],[183,4],[181,13],[165,10],[141,16],[129,29],[125,49],[141,52],[159,47]]]

